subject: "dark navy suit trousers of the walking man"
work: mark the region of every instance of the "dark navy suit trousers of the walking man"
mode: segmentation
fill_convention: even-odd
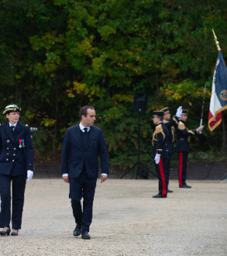
[[[97,178],[88,178],[86,170],[82,170],[77,178],[70,178],[70,199],[75,222],[82,226],[82,232],[88,231],[92,223],[93,201]],[[81,198],[83,197],[83,210]]]

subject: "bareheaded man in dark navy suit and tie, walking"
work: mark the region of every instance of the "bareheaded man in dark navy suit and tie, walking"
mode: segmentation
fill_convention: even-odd
[[[81,123],[67,130],[63,141],[61,173],[63,180],[70,183],[71,206],[76,221],[74,236],[81,234],[89,240],[92,223],[92,207],[97,177],[99,177],[98,152],[101,159],[101,183],[109,174],[108,152],[103,131],[96,126],[95,108],[85,106],[80,111]],[[81,198],[83,211],[81,210]]]

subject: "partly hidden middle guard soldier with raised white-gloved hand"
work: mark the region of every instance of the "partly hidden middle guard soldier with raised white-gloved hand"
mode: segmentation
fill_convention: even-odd
[[[171,164],[171,155],[173,154],[173,143],[174,143],[174,136],[175,136],[175,128],[177,126],[176,121],[178,121],[178,117],[181,117],[182,115],[182,107],[178,108],[178,111],[174,117],[174,119],[171,119],[171,114],[168,110],[168,108],[163,108],[161,111],[164,112],[164,125],[168,128],[168,159],[166,163],[167,168],[167,189],[168,189],[168,183],[169,183],[169,174],[170,174],[170,164]],[[168,193],[171,193],[172,191],[168,189]]]

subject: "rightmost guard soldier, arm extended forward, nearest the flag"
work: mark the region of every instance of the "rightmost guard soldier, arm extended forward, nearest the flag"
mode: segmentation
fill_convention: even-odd
[[[182,115],[180,119],[178,119],[178,126],[175,131],[178,138],[175,152],[178,153],[179,158],[178,179],[180,188],[192,188],[191,186],[186,185],[189,137],[194,134],[198,134],[201,130],[204,129],[204,126],[200,126],[196,130],[189,130],[185,125],[187,118],[188,111],[182,110]]]

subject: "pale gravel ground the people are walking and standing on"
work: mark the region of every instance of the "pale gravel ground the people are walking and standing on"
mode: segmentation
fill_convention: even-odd
[[[20,236],[0,237],[0,255],[227,255],[227,182],[188,183],[193,188],[171,181],[174,192],[153,199],[157,181],[98,181],[92,240],[81,240],[73,236],[68,185],[33,179]]]

